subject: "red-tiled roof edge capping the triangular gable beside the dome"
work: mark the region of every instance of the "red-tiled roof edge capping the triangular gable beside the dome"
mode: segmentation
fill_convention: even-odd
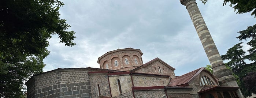
[[[156,61],[161,62],[162,64],[166,65],[168,68],[172,69],[173,71],[175,70],[175,68],[171,67],[169,64],[165,63],[163,60],[161,60],[161,59],[159,59],[159,58],[157,57],[157,58],[155,58],[155,59],[153,59],[153,60],[151,60],[151,61],[149,61],[149,62],[147,62],[147,63],[145,63],[145,64],[143,64],[143,65],[141,65],[140,67],[137,67],[137,68],[131,70],[130,72],[137,71],[137,70],[139,70],[139,69],[141,69],[141,68],[144,68],[144,67],[146,67],[147,65],[150,65],[150,64],[152,64],[152,63],[154,63],[154,62],[156,62]]]

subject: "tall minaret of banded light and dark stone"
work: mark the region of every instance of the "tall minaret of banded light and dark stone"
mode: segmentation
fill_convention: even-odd
[[[204,22],[203,16],[201,15],[199,8],[197,7],[195,0],[180,0],[182,5],[186,6],[189,12],[190,18],[194,24],[196,32],[201,40],[204,47],[205,53],[212,65],[213,74],[219,79],[220,86],[235,86],[238,87],[237,82],[232,75],[232,71],[227,69],[223,63],[220,54],[211,34]],[[244,98],[241,91],[237,91],[240,98]]]

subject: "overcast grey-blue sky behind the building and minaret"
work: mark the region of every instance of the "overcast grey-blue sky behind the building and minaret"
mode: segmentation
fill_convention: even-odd
[[[238,31],[256,20],[235,14],[223,0],[196,0],[220,55],[237,44]],[[76,32],[73,47],[49,40],[44,71],[56,68],[99,68],[98,57],[122,48],[140,49],[143,63],[159,57],[183,75],[210,64],[186,7],[179,0],[63,0],[60,18]],[[227,61],[226,61],[227,62]]]

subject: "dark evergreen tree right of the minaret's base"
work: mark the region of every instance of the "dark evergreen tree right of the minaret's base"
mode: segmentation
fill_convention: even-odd
[[[240,79],[241,84],[241,91],[245,96],[251,95],[252,93],[255,94],[255,90],[253,88],[256,88],[256,86],[253,87],[253,85],[247,84],[250,82],[246,81],[252,81],[256,82],[255,79],[246,78],[250,77],[250,73],[256,72],[256,65],[255,65],[255,56],[256,56],[256,43],[255,43],[255,37],[256,37],[256,25],[248,27],[248,29],[240,31],[240,35],[237,37],[240,41],[242,40],[248,40],[251,39],[246,44],[251,46],[247,50],[248,54],[244,51],[244,48],[242,46],[242,42],[234,45],[232,48],[230,48],[225,55],[222,55],[223,60],[230,60],[227,65],[232,69],[235,75],[237,75]],[[248,61],[250,63],[246,63],[245,61]],[[246,78],[246,79],[244,79]],[[246,87],[246,85],[252,86],[250,89]],[[253,91],[254,90],[254,91]]]

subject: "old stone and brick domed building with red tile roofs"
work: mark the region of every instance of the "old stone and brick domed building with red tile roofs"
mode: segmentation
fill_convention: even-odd
[[[239,98],[239,87],[220,86],[203,67],[175,76],[175,68],[159,58],[143,63],[142,54],[117,49],[99,57],[100,68],[34,75],[26,82],[27,98]]]

